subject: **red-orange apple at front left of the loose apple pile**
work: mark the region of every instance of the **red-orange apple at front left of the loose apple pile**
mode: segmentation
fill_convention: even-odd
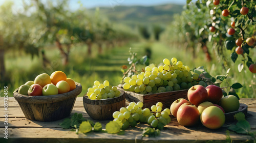
[[[182,104],[177,111],[177,121],[183,126],[193,126],[200,120],[200,112],[195,105]]]

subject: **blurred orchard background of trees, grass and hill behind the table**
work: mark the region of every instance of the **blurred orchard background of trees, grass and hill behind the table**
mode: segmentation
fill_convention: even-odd
[[[243,85],[237,91],[240,98],[256,97],[255,74],[248,67],[239,72],[239,62],[229,58],[231,51],[218,48],[223,42],[209,40],[214,37],[208,30],[212,7],[205,3],[114,9],[81,5],[71,10],[68,0],[31,0],[23,1],[24,9],[19,12],[12,10],[12,1],[6,1],[0,7],[0,95],[6,85],[12,96],[16,88],[38,74],[61,70],[82,84],[79,96],[83,96],[94,80],[121,83],[124,65],[129,68],[127,59],[136,53],[139,59],[147,55],[147,62],[156,65],[164,58],[176,57],[190,69],[204,66],[212,76],[223,75],[230,68],[227,81]],[[250,54],[256,61],[255,48]],[[144,67],[137,65],[137,70]]]

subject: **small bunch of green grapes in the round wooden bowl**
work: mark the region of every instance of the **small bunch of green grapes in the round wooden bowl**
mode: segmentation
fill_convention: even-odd
[[[117,90],[116,86],[111,86],[108,80],[105,80],[103,83],[100,83],[98,80],[94,81],[92,88],[88,88],[87,96],[89,99],[107,99],[118,97],[120,91]]]

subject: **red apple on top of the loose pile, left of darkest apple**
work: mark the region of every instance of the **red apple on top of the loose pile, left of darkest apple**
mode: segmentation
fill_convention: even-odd
[[[194,85],[187,91],[188,101],[196,106],[208,98],[207,90],[202,85]]]

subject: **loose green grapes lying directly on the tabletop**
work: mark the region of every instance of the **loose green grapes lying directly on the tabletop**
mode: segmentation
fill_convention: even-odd
[[[170,122],[170,109],[166,108],[162,111],[163,104],[158,102],[156,110],[153,112],[148,108],[142,109],[142,102],[131,102],[127,107],[121,107],[119,111],[113,113],[113,118],[117,122],[122,130],[127,129],[129,126],[135,127],[138,123],[147,123],[154,128],[162,129]],[[152,106],[152,107],[153,107]]]

